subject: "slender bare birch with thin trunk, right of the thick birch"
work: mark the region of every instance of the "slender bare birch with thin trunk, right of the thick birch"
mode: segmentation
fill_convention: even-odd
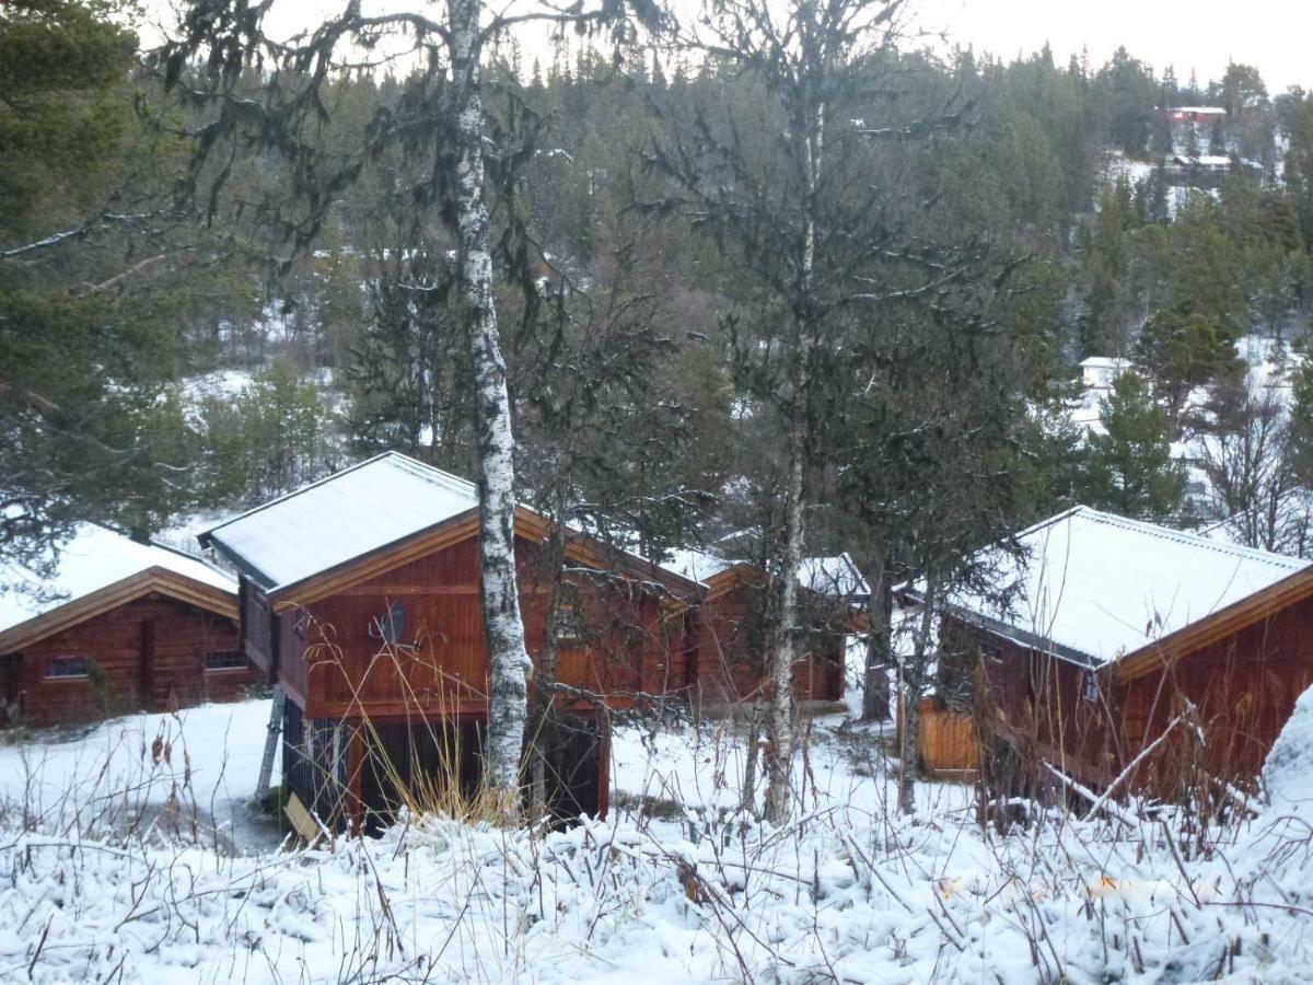
[[[878,144],[922,139],[956,112],[953,95],[932,84],[898,102],[916,71],[898,51],[902,13],[902,0],[708,3],[672,43],[705,59],[739,102],[755,100],[754,117],[726,113],[723,97],[683,116],[662,104],[672,137],[649,158],[678,189],[651,208],[714,235],[742,271],[744,299],[727,319],[735,369],[751,399],[780,422],[764,633],[765,816],[776,822],[790,809],[797,745],[798,570],[815,502],[809,473],[823,461],[827,406],[842,402],[831,370],[869,309],[958,276],[951,259],[931,257],[907,236],[889,209],[890,173],[873,167]],[[885,265],[901,268],[899,277],[886,277]]]

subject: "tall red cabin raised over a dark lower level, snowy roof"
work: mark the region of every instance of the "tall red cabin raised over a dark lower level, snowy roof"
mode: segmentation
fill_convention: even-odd
[[[286,695],[285,787],[324,823],[374,827],[477,784],[478,531],[471,483],[386,453],[202,535],[240,573],[244,653]],[[608,712],[684,679],[697,586],[579,532],[557,537],[525,507],[515,533],[529,654],[540,671],[558,654],[550,733],[533,737],[549,750],[549,802],[562,818],[604,814]]]

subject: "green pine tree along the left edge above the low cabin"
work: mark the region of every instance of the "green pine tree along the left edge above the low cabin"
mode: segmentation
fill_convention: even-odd
[[[175,146],[134,118],[127,14],[0,7],[0,569],[49,561],[74,520],[144,536],[186,502],[167,385],[207,271],[169,248]]]

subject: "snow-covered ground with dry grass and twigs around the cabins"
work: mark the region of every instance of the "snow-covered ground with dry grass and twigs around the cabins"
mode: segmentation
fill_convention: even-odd
[[[49,806],[29,823],[18,808],[0,820],[0,980],[1313,976],[1308,696],[1274,756],[1275,805],[1220,839],[1124,808],[1082,821],[1032,806],[1036,823],[1003,835],[976,823],[970,789],[940,784],[902,818],[880,730],[838,717],[811,726],[783,829],[735,813],[743,742],[714,724],[618,729],[616,802],[629,806],[561,833],[423,818],[312,850],[249,835],[251,851],[231,854],[204,837],[171,843],[163,825],[142,842],[89,823],[119,784],[127,802],[167,805],[179,783],[240,835],[265,712],[252,701],[140,716],[3,751],[5,796],[25,795],[37,759]],[[173,737],[167,770],[152,754],[160,728]]]

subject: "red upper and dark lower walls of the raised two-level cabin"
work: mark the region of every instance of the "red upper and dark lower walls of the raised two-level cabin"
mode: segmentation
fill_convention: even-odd
[[[544,549],[516,540],[525,644],[548,644],[551,571]],[[386,822],[403,796],[431,792],[444,775],[469,785],[487,720],[487,647],[469,538],[362,579],[324,599],[274,611],[242,587],[244,646],[286,691],[286,785],[330,827],[348,818]],[[544,739],[549,801],[559,818],[603,814],[609,732],[595,700],[633,707],[688,672],[688,613],[666,607],[634,579],[567,566],[557,641],[557,680],[592,697],[565,696]],[[530,684],[532,687],[532,684]],[[441,766],[433,735],[458,730],[458,762]],[[424,777],[424,779],[419,779]],[[355,805],[355,806],[353,806]]]

